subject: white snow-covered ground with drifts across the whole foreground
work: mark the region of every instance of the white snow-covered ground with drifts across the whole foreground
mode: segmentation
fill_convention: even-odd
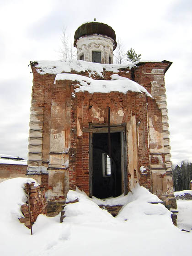
[[[65,207],[64,222],[59,223],[59,215],[39,215],[30,235],[30,229],[18,220],[22,215],[20,206],[26,201],[22,187],[27,181],[32,179],[0,183],[1,256],[181,256],[192,252],[192,232],[181,231],[181,225],[175,227],[171,212],[144,187],[119,198],[124,207],[116,218],[99,208],[96,198],[91,200],[83,192],[70,191],[68,200],[78,198],[79,203]],[[105,203],[112,203],[110,200]],[[183,202],[178,206],[184,218],[184,207],[188,208],[186,205],[192,201]],[[185,227],[190,227],[192,218],[185,218]]]

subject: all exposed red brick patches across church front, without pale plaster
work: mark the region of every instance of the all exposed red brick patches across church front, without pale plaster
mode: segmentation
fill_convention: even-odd
[[[118,74],[133,79],[144,88],[151,92],[151,81],[154,80],[154,75],[151,74],[152,69],[165,69],[167,63],[144,63],[133,70],[122,69]],[[150,163],[149,163],[149,134],[147,120],[147,105],[149,103],[149,115],[160,116],[161,112],[154,100],[146,98],[144,94],[128,92],[126,95],[119,92],[110,92],[107,94],[88,92],[79,92],[76,97],[71,96],[71,92],[75,89],[73,81],[57,81],[53,84],[55,75],[37,73],[35,66],[32,66],[34,81],[32,101],[34,106],[42,107],[43,109],[43,149],[42,149],[42,164],[47,165],[49,160],[50,149],[50,129],[54,122],[62,120],[53,118],[51,113],[52,99],[60,106],[66,107],[70,105],[70,149],[69,149],[69,188],[75,189],[75,186],[83,189],[86,193],[89,192],[89,133],[77,134],[77,121],[83,127],[89,128],[89,123],[107,123],[107,107],[111,111],[117,112],[123,109],[124,117],[122,123],[130,121],[131,115],[135,115],[136,122],[141,122],[139,125],[139,148],[138,148],[138,168],[144,165],[148,172],[141,175],[140,183],[144,187],[151,189]],[[88,72],[77,73],[72,70],[71,73],[89,76]],[[111,80],[112,72],[103,70],[103,75],[92,75],[93,79]],[[72,85],[73,84],[73,85]],[[68,96],[66,97],[66,93]],[[104,110],[104,119],[98,120],[91,116],[91,107]],[[81,115],[77,117],[77,108],[81,110]],[[78,118],[78,119],[77,119]],[[52,121],[51,121],[52,120]],[[60,120],[60,121],[59,121]],[[52,122],[52,124],[51,124]],[[115,124],[115,123],[114,123]],[[64,127],[63,127],[64,128]],[[162,130],[162,122],[158,120],[155,124],[155,129]],[[128,147],[127,147],[128,148]],[[129,159],[128,159],[129,162]],[[128,174],[130,178],[130,175]]]

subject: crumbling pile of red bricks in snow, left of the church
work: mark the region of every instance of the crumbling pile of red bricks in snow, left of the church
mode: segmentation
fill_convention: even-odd
[[[28,202],[21,205],[21,212],[24,218],[21,217],[20,222],[24,223],[27,228],[35,223],[39,214],[47,213],[47,200],[45,197],[45,189],[43,186],[35,186],[35,182],[25,184],[25,192],[29,195]],[[30,204],[30,213],[29,213]],[[31,221],[30,221],[31,218]]]

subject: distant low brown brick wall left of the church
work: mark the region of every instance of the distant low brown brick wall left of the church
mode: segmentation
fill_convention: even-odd
[[[25,177],[26,171],[27,165],[0,164],[0,182],[12,178]]]

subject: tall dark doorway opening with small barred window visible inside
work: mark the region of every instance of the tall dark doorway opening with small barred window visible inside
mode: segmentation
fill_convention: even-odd
[[[93,133],[92,147],[92,195],[98,198],[121,195],[121,133],[111,133],[111,158],[108,133]]]

